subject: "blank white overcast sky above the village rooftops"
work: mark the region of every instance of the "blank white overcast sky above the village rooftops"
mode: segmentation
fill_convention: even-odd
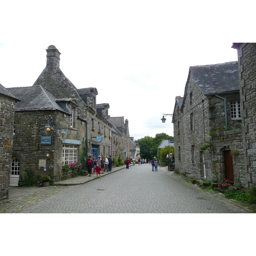
[[[32,86],[53,44],[65,76],[77,88],[96,87],[97,103],[128,119],[131,137],[173,135],[172,117],[160,119],[183,96],[189,66],[236,61],[231,46],[242,23],[236,1],[171,2],[4,3],[0,35],[10,43],[0,44],[0,84]]]

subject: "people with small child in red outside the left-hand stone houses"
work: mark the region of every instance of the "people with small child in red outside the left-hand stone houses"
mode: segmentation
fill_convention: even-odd
[[[101,178],[100,176],[101,173],[111,172],[112,165],[113,165],[113,158],[111,155],[109,157],[98,156],[98,160],[96,160],[95,157],[93,157],[92,159],[91,156],[88,156],[88,159],[86,161],[86,167],[87,167],[88,175],[90,177],[96,171],[97,177],[99,174],[99,177]]]

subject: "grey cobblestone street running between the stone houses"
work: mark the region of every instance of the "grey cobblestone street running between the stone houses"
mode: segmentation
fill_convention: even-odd
[[[201,189],[164,167],[152,172],[149,164],[136,165],[108,174],[101,179],[92,177],[91,182],[77,177],[65,181],[65,186],[15,188],[16,194],[12,189],[10,199],[0,202],[0,213],[255,212],[253,206]],[[77,180],[80,185],[69,185]]]

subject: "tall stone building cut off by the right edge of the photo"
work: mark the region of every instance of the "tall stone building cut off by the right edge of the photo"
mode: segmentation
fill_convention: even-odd
[[[238,52],[245,186],[256,186],[256,43],[233,43]]]

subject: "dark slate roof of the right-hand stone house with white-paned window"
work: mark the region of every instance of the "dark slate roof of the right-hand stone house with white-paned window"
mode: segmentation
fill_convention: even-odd
[[[189,70],[205,95],[239,91],[237,61],[193,66]]]

